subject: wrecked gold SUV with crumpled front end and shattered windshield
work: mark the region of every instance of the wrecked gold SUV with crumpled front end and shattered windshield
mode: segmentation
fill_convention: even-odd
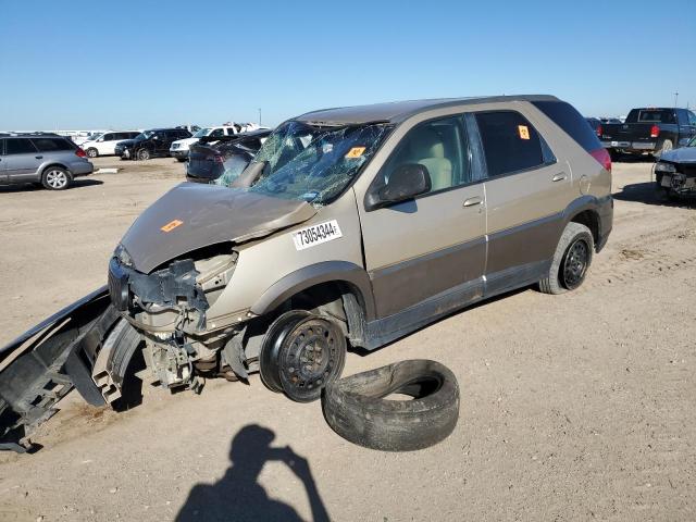
[[[316,399],[348,347],[513,288],[580,286],[611,232],[610,171],[585,120],[549,96],[302,114],[229,186],[184,183],[137,219],[110,298],[67,311],[84,315],[69,381],[111,402],[142,349],[170,389],[259,371]]]

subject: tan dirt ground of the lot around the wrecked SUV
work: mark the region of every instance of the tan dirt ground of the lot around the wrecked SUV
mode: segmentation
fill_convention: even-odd
[[[0,188],[0,345],[105,281],[133,220],[179,183],[173,160],[64,192]],[[148,388],[125,413],[76,394],[0,455],[0,520],[696,520],[696,210],[654,197],[650,163],[614,163],[614,231],[579,290],[524,289],[368,356],[346,374],[433,358],[461,387],[453,434],[362,449],[318,403],[258,376],[202,395]]]

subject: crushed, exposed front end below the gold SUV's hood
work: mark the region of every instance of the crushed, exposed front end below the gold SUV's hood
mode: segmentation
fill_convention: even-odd
[[[197,260],[173,260],[150,274],[128,266],[123,252],[117,249],[111,260],[109,290],[145,339],[152,377],[169,389],[194,390],[202,387],[199,377],[236,380],[220,352],[237,326],[215,325],[207,312],[229,283],[237,252],[206,249],[191,253]]]

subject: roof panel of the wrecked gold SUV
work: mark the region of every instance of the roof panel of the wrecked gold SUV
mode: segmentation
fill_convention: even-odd
[[[374,103],[371,105],[339,107],[307,112],[295,120],[301,122],[325,124],[360,124],[374,122],[400,123],[420,112],[450,105],[480,104],[504,101],[559,101],[555,96],[523,95],[523,96],[488,96],[475,98],[439,98],[431,100],[395,101],[389,103]]]

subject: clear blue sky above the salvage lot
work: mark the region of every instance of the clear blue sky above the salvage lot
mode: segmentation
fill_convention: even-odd
[[[273,126],[420,98],[696,105],[696,0],[0,0],[0,129]]]

